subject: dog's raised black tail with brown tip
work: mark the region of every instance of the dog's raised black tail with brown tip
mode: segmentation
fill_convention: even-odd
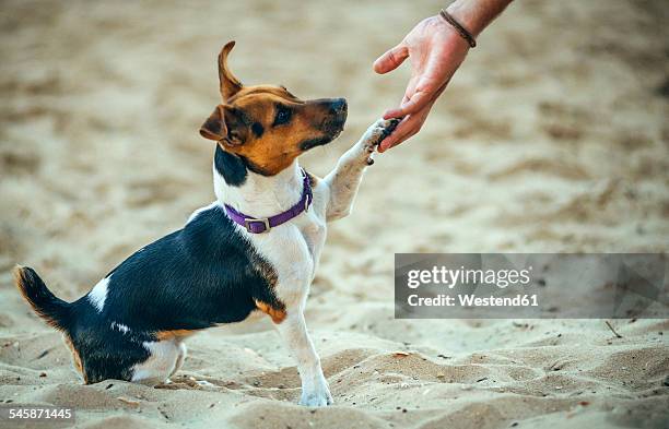
[[[44,281],[31,267],[16,265],[14,278],[19,291],[37,315],[52,327],[64,331],[69,324],[72,305],[51,294]]]

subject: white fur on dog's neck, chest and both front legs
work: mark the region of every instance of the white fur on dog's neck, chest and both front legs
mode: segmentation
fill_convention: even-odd
[[[336,169],[314,187],[314,202],[308,212],[265,234],[250,234],[237,226],[239,233],[277,272],[275,291],[278,298],[285,303],[287,314],[277,329],[297,361],[302,379],[300,403],[303,405],[325,406],[332,403],[320,359],[304,320],[306,298],[326,239],[326,222],[341,218],[351,212],[367,159],[387,123],[379,121],[372,126],[341,157]],[[303,180],[297,162],[271,177],[248,171],[246,181],[239,187],[228,186],[215,167],[213,172],[219,203],[228,204],[256,218],[272,216],[290,208],[300,201],[302,194]]]

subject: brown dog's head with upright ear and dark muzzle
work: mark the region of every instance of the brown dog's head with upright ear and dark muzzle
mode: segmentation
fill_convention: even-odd
[[[261,175],[273,176],[302,153],[327,144],[343,130],[347,100],[302,100],[283,86],[244,86],[227,68],[230,41],[219,55],[223,104],[200,128],[203,138],[235,154]]]

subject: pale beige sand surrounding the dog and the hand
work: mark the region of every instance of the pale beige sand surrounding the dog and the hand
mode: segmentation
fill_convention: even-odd
[[[197,130],[225,41],[244,82],[349,99],[342,136],[303,159],[325,175],[403,92],[407,68],[373,60],[438,7],[2,2],[0,405],[71,406],[87,428],[667,427],[667,320],[613,321],[618,338],[602,320],[394,320],[391,301],[395,252],[669,250],[664,1],[513,4],[377,158],[306,313],[334,406],[296,405],[261,318],[189,339],[171,389],[81,385],[14,289],[30,264],[73,300],[212,201]]]

